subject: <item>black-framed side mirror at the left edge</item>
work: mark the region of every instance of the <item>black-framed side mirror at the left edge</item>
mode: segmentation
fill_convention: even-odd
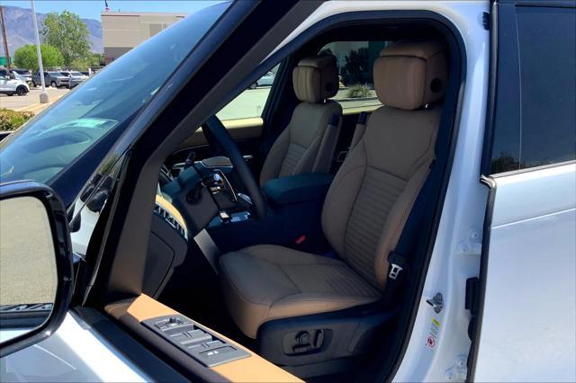
[[[0,358],[54,334],[72,286],[62,201],[41,183],[0,184]]]

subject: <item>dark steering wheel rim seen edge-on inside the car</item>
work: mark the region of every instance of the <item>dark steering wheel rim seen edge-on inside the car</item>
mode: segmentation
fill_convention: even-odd
[[[244,187],[252,200],[256,218],[265,218],[266,203],[262,197],[260,186],[228,130],[216,115],[213,115],[210,119],[206,120],[206,122],[204,122],[204,127],[210,130],[213,138],[218,141],[220,147],[224,150],[226,156],[229,157],[232,165],[234,165],[234,171],[238,174],[241,183],[244,184]]]

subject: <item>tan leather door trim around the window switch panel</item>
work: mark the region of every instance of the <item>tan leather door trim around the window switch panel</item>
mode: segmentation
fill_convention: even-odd
[[[153,334],[148,328],[141,325],[141,321],[157,316],[178,314],[172,308],[163,305],[145,294],[140,295],[138,298],[129,298],[111,303],[104,307],[104,310],[137,334],[152,334],[154,336],[156,336],[156,334]],[[302,382],[301,379],[275,366],[275,364],[266,361],[255,352],[247,350],[246,347],[222,334],[213,330],[210,331],[220,338],[225,339],[227,342],[243,348],[250,353],[250,357],[238,361],[229,361],[228,363],[211,368],[204,367],[192,358],[188,358],[190,361],[186,363],[186,367],[197,372],[198,377],[201,379],[218,382]],[[161,340],[161,338],[158,337],[158,340]],[[166,344],[177,350],[172,344],[167,342]],[[184,352],[182,352],[182,354],[185,355]]]

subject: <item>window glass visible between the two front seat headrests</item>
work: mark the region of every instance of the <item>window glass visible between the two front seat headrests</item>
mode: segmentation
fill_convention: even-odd
[[[332,100],[342,109],[381,105],[374,91],[374,61],[389,41],[333,41],[319,54],[331,54],[338,64],[339,89]]]

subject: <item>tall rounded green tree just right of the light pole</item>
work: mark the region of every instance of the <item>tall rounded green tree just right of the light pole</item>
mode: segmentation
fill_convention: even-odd
[[[48,13],[41,33],[45,43],[62,52],[66,66],[72,65],[76,59],[90,56],[90,33],[76,13]]]

